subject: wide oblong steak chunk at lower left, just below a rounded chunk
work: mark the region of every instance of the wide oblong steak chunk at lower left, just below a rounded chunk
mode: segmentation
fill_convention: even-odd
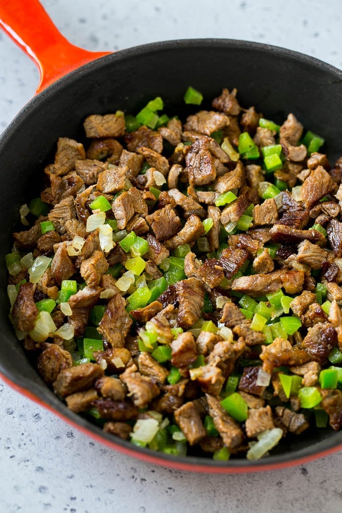
[[[82,363],[75,367],[62,369],[53,383],[58,396],[70,396],[71,393],[89,390],[95,381],[103,376],[103,369],[97,363]]]

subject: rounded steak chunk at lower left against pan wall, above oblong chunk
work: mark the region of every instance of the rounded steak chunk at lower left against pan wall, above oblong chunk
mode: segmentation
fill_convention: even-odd
[[[37,369],[45,383],[51,385],[56,381],[61,370],[70,367],[72,367],[72,358],[69,351],[57,344],[45,344],[44,351],[37,359]]]

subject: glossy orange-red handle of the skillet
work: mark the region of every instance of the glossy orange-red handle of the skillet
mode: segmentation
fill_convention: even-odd
[[[38,66],[37,93],[70,71],[111,53],[90,52],[69,43],[38,0],[0,0],[0,27]]]

